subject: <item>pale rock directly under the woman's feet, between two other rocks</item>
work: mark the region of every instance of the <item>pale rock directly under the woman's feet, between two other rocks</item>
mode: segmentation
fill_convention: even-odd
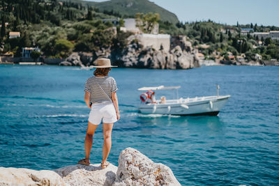
[[[110,164],[106,169],[100,169],[100,164],[81,164],[65,166],[54,170],[67,185],[105,185],[114,183],[117,166]]]

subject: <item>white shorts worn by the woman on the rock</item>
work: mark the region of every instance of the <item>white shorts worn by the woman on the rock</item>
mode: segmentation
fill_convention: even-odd
[[[103,123],[114,123],[117,121],[114,104],[92,104],[88,121],[93,125]]]

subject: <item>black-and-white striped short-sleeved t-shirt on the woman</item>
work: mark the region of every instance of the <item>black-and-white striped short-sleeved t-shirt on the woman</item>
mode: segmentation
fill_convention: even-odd
[[[84,91],[90,93],[90,102],[112,103],[112,93],[117,91],[115,79],[113,77],[89,77],[85,83]]]

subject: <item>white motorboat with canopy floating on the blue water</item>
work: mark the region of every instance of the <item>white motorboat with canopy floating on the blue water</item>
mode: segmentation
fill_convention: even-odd
[[[219,95],[219,86],[217,86],[218,93],[213,96],[196,97],[196,98],[179,98],[178,88],[181,86],[152,86],[138,88],[138,91],[157,91],[166,89],[176,89],[177,99],[165,100],[165,102],[153,102],[140,104],[140,112],[142,114],[172,114],[172,115],[207,115],[217,116],[220,109],[224,107],[230,95]],[[159,100],[160,101],[160,100]]]

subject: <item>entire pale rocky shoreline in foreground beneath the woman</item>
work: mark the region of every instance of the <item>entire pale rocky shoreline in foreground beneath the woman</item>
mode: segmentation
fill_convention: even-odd
[[[0,185],[181,185],[168,166],[154,163],[134,148],[119,155],[119,166],[75,164],[53,171],[0,167]]]

